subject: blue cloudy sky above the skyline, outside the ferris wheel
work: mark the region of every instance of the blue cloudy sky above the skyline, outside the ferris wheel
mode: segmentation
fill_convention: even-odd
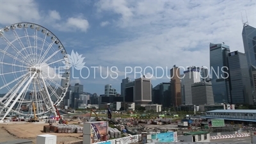
[[[0,0],[0,28],[33,22],[51,30],[67,53],[84,58],[80,62],[90,70],[88,76],[88,69],[72,67],[70,84],[83,84],[84,92],[98,95],[105,84],[120,93],[125,77],[145,75],[156,86],[170,82],[173,65],[209,67],[210,42],[244,52],[241,33],[247,20],[256,26],[255,0]],[[134,75],[138,67],[142,72]]]

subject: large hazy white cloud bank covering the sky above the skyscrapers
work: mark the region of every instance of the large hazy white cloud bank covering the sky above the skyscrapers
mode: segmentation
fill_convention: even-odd
[[[113,25],[134,35],[94,51],[102,65],[209,67],[210,42],[244,51],[241,12],[246,10],[249,24],[256,26],[255,1],[115,2],[99,1],[98,12],[118,14]]]

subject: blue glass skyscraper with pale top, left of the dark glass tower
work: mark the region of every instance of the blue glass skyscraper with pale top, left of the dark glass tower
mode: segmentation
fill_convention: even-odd
[[[228,77],[229,46],[210,43],[210,65],[214,102],[230,103],[230,81]]]

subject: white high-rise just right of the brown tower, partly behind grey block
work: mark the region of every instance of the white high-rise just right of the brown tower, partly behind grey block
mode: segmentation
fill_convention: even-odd
[[[185,104],[192,104],[192,93],[191,85],[199,83],[201,81],[200,68],[199,67],[188,67],[188,70],[184,71],[184,94]]]

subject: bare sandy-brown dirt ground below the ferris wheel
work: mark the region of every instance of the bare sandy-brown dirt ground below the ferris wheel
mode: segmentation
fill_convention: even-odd
[[[83,140],[83,134],[55,133],[55,132],[45,133],[43,131],[44,125],[48,125],[48,124],[24,123],[24,122],[0,124],[0,142],[26,139],[26,140],[33,140],[33,143],[36,143],[36,136],[39,134],[56,135],[58,144],[68,144],[68,143]],[[56,124],[53,124],[53,125],[56,125]]]

